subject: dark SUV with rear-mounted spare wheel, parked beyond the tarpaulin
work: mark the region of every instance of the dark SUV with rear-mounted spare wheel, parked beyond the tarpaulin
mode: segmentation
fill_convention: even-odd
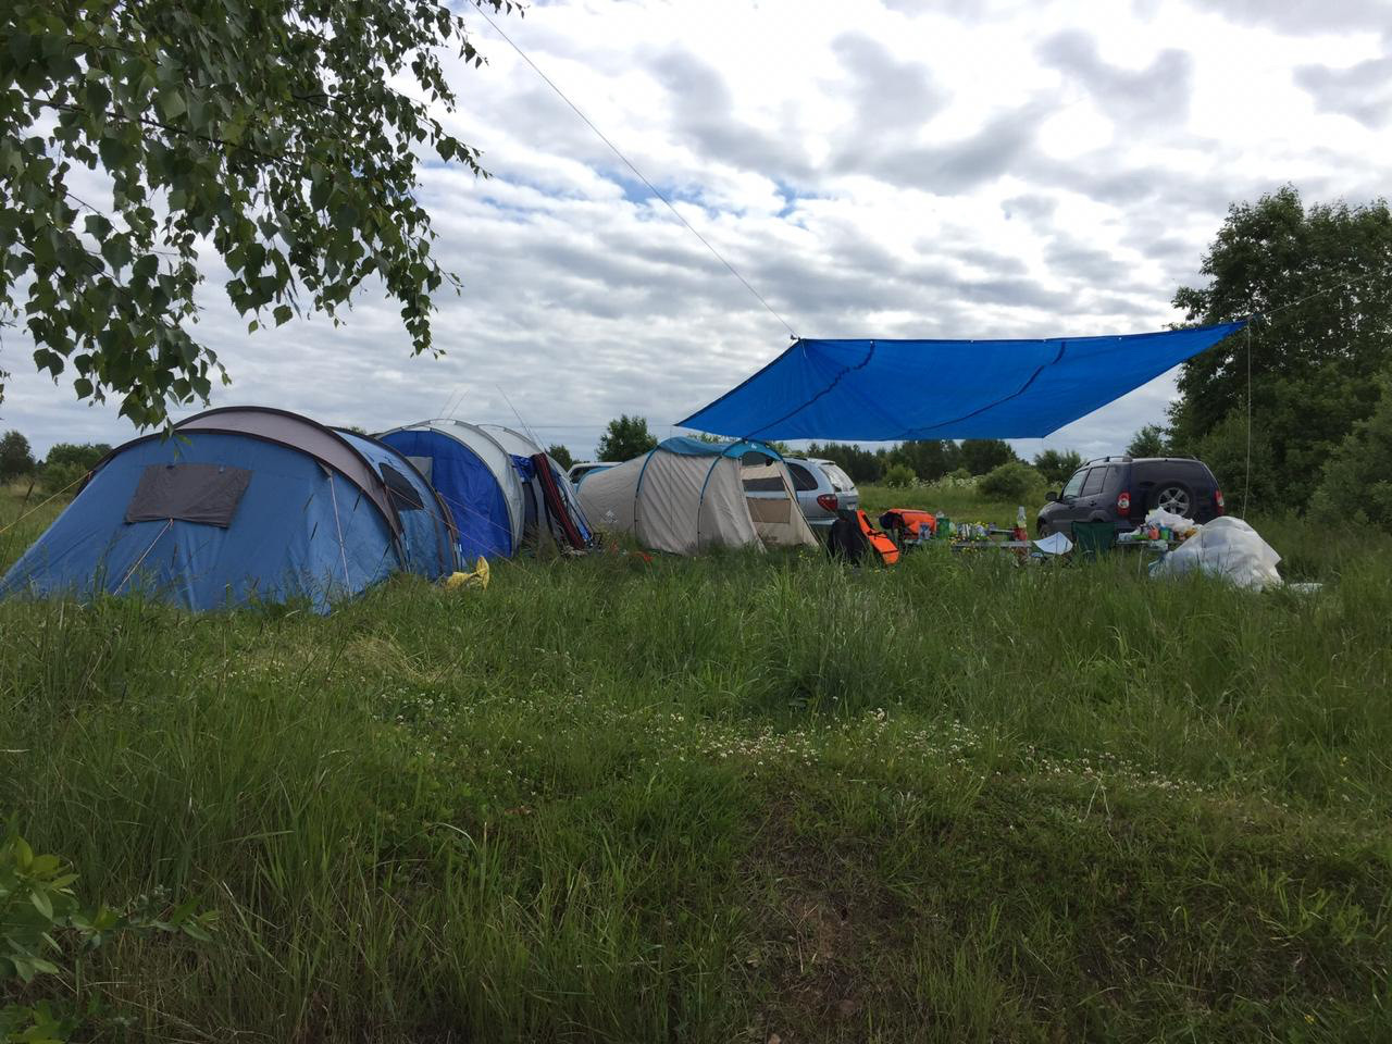
[[[1194,522],[1211,522],[1224,511],[1222,490],[1208,465],[1180,457],[1089,461],[1048,500],[1036,523],[1040,536],[1072,536],[1075,522],[1111,522],[1123,533],[1144,522],[1153,508]]]

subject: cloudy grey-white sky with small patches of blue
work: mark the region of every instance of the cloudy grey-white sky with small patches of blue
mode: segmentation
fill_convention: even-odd
[[[1051,337],[1180,317],[1229,202],[1386,193],[1388,0],[567,0],[500,24],[806,337]],[[788,331],[476,15],[447,122],[489,181],[423,193],[443,359],[412,358],[366,290],[345,327],[248,337],[206,264],[195,335],[214,405],[381,429],[450,409],[516,418],[589,457],[621,412],[658,434],[788,345]],[[33,373],[0,426],[38,450],[134,434]],[[1048,440],[1119,451],[1172,376]],[[196,411],[184,411],[184,413]]]

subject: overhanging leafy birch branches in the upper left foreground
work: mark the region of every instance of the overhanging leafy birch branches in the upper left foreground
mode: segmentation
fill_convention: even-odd
[[[0,310],[79,398],[155,425],[227,379],[188,331],[207,248],[251,330],[377,277],[433,349],[418,164],[483,173],[427,109],[438,46],[482,63],[447,3],[13,0],[0,40]]]

